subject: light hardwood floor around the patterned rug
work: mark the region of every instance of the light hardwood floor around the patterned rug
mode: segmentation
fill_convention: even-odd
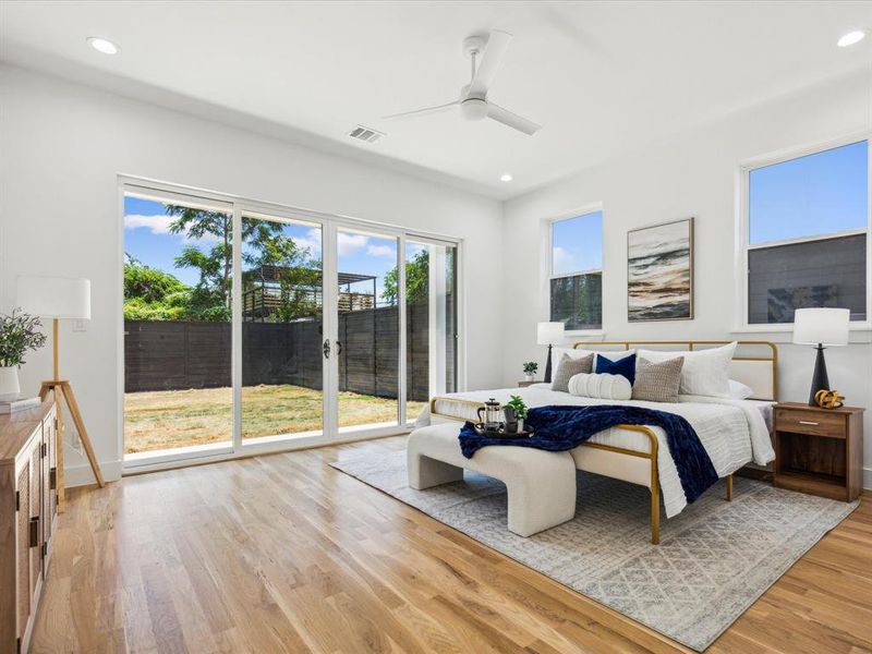
[[[33,651],[687,651],[329,468],[343,449],[72,491]],[[872,494],[708,651],[872,651]]]

